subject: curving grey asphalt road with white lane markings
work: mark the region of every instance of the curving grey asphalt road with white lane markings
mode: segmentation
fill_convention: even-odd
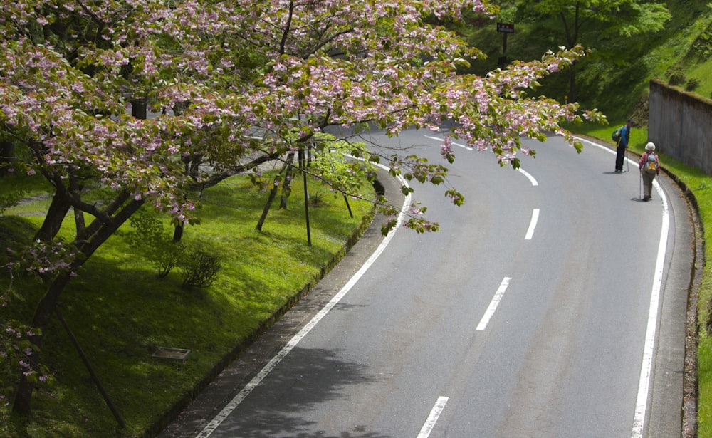
[[[438,137],[392,146],[436,161]],[[414,185],[441,231],[377,221],[159,436],[679,436],[689,207],[665,176],[642,202],[606,148],[536,148],[518,172],[459,147],[463,207]]]

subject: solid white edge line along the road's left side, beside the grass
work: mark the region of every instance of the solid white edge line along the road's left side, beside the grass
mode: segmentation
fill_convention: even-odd
[[[384,165],[379,165],[377,166],[381,167],[384,170],[388,170],[387,167]],[[398,177],[399,181],[404,185],[408,186],[408,183],[405,181],[403,177]],[[245,398],[254,390],[257,385],[262,382],[262,380],[267,377],[269,372],[273,370],[278,363],[281,362],[283,358],[288,355],[288,353],[295,348],[295,346],[299,343],[300,340],[302,340],[309,331],[314,328],[317,323],[324,318],[324,316],[334,307],[336,304],[343,298],[350,290],[351,288],[356,284],[357,281],[363,276],[363,274],[370,268],[370,266],[376,261],[379,255],[383,252],[383,250],[386,248],[386,246],[389,244],[391,239],[393,239],[393,236],[399,226],[402,224],[404,214],[407,210],[407,208],[410,205],[410,195],[407,195],[403,201],[403,207],[401,209],[401,213],[398,215],[398,219],[396,222],[396,226],[393,227],[393,229],[387,234],[387,236],[384,237],[384,239],[381,241],[381,244],[379,244],[378,248],[376,251],[374,251],[373,254],[369,257],[369,259],[361,266],[361,268],[350,278],[350,280],[340,289],[340,291],[333,297],[331,300],[326,303],[326,305],[301,329],[299,330],[299,333],[294,335],[291,340],[265,365],[260,372],[257,373],[255,377],[248,382],[245,387],[238,392],[238,394],[233,397],[230,402],[228,402],[223,409],[216,414],[215,417],[202,429],[202,431],[197,434],[196,438],[207,438],[209,437],[213,432],[215,432],[215,429],[217,429],[222,422],[225,421],[225,419],[233,412],[236,407],[240,405],[240,403],[245,400]]]

